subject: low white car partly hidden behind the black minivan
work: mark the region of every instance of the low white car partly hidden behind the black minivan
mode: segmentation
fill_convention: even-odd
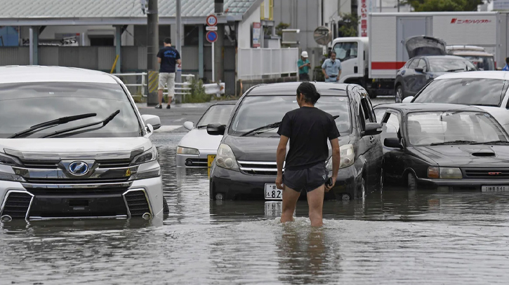
[[[196,126],[185,122],[189,130],[180,140],[177,147],[177,167],[209,167],[209,162],[216,158],[222,137],[207,134],[207,125],[218,123],[225,125],[237,102],[225,101],[213,104],[198,120]]]

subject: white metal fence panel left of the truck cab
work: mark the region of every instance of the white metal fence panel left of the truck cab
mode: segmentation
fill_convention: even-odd
[[[295,74],[298,59],[298,48],[239,48],[237,76],[253,80]]]

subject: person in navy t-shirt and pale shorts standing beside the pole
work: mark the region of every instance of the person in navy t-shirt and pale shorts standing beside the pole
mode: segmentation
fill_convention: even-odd
[[[180,64],[180,53],[178,50],[171,46],[171,39],[164,39],[164,48],[159,50],[157,53],[157,62],[161,64],[159,68],[159,105],[156,106],[156,109],[163,108],[163,90],[164,85],[168,86],[168,104],[166,105],[166,109],[171,109],[171,98],[175,94],[175,71],[176,65]]]

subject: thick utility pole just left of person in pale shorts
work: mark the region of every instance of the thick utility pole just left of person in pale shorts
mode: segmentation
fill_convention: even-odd
[[[147,10],[147,71],[149,74],[149,88],[147,105],[159,104],[157,96],[157,53],[159,52],[159,16],[157,15],[157,0],[148,0]],[[155,82],[156,85],[150,84]]]

